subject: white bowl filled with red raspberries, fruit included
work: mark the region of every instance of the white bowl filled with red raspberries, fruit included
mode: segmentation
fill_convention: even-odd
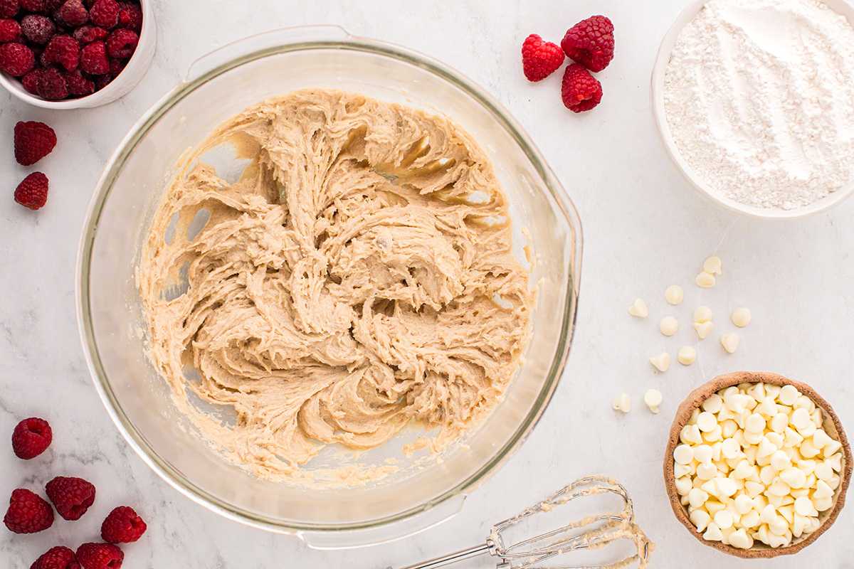
[[[155,52],[151,0],[0,0],[0,84],[45,108],[126,95]]]

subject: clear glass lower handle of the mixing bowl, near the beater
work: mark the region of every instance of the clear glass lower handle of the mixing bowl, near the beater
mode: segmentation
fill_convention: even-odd
[[[351,549],[388,543],[412,536],[439,525],[459,514],[465,494],[453,496],[445,502],[393,524],[352,531],[299,531],[297,536],[311,549]]]

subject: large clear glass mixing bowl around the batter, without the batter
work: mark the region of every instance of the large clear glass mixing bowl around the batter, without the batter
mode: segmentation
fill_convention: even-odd
[[[510,196],[518,257],[525,258],[528,244],[538,287],[533,336],[505,400],[461,444],[442,451],[441,461],[401,453],[417,436],[412,431],[360,456],[377,464],[394,456],[401,472],[357,487],[275,484],[211,450],[145,355],[134,278],[143,238],[182,154],[243,108],[306,87],[361,91],[458,121],[485,148]],[[337,27],[268,32],[197,61],[109,160],[80,243],[80,334],[116,426],[178,491],[227,518],[298,535],[313,547],[378,543],[459,511],[534,427],[570,349],[581,251],[578,215],[553,171],[516,120],[470,80],[424,55]],[[325,454],[319,466],[335,466],[341,456]]]

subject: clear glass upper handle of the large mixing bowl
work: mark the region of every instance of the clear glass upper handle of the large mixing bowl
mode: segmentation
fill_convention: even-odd
[[[324,41],[341,41],[351,38],[341,26],[295,26],[285,27],[270,32],[261,32],[249,38],[238,39],[231,44],[214,49],[208,55],[202,55],[190,64],[190,69],[184,78],[184,83],[196,81],[206,74],[226,64],[235,63],[244,55],[278,48],[289,44],[322,43]]]

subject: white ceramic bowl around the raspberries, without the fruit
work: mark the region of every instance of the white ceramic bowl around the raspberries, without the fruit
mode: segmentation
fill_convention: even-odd
[[[142,80],[145,72],[149,70],[157,43],[157,27],[152,0],[140,0],[140,6],[143,9],[143,29],[139,33],[137,50],[133,52],[130,61],[127,62],[127,66],[119,73],[119,76],[102,90],[79,99],[47,101],[40,96],[27,92],[24,86],[20,84],[20,78],[12,77],[6,73],[0,73],[0,85],[3,85],[9,93],[29,105],[53,109],[101,107],[126,96]]]

